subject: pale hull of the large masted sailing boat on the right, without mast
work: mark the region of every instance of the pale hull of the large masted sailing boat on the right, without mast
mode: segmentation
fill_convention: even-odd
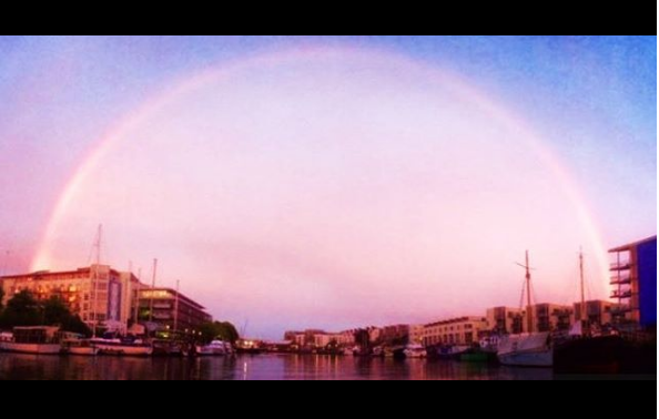
[[[554,348],[549,333],[504,336],[497,352],[501,365],[511,367],[554,366]]]

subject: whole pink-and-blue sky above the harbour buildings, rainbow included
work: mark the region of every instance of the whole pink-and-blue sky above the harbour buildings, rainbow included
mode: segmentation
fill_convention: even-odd
[[[656,37],[0,37],[0,274],[103,263],[247,334],[608,297],[657,232]],[[9,254],[7,253],[9,252]]]

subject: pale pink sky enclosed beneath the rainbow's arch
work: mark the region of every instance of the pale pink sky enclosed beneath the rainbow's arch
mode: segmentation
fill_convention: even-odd
[[[539,302],[577,299],[579,246],[606,296],[549,144],[504,108],[393,55],[219,74],[114,131],[34,267],[84,265],[102,223],[103,262],[146,277],[158,257],[160,285],[266,337],[518,306],[527,248]]]

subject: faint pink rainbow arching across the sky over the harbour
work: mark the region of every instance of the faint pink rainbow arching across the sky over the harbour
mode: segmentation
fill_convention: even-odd
[[[255,69],[258,67],[276,65],[294,60],[339,60],[349,58],[361,60],[377,65],[397,65],[403,69],[415,71],[427,78],[430,82],[439,83],[443,88],[450,90],[468,103],[477,106],[489,117],[498,121],[500,124],[518,133],[520,137],[527,139],[526,145],[550,168],[564,192],[569,197],[579,221],[585,226],[588,234],[588,241],[595,252],[598,272],[601,280],[608,285],[608,260],[606,247],[602,243],[599,231],[594,222],[586,198],[582,196],[577,184],[572,181],[569,171],[561,164],[554,152],[547,146],[548,142],[543,140],[534,130],[518,115],[514,114],[506,106],[495,102],[485,93],[472,86],[467,81],[457,74],[445,70],[439,70],[432,64],[419,61],[413,61],[408,57],[377,49],[356,49],[356,48],[317,48],[304,47],[287,51],[274,53],[257,54],[243,58],[219,67],[201,71],[192,76],[185,78],[180,82],[173,83],[171,88],[160,92],[152,99],[145,101],[139,109],[121,119],[111,127],[101,139],[91,152],[83,159],[81,165],[75,170],[68,184],[64,186],[45,229],[40,239],[40,244],[33,256],[31,267],[39,270],[52,265],[50,248],[57,242],[57,234],[61,221],[64,218],[69,208],[75,201],[79,192],[83,187],[85,178],[99,166],[108,153],[121,143],[122,137],[131,130],[138,127],[141,123],[149,120],[164,105],[176,101],[178,98],[204,86],[207,83],[217,82],[223,79],[230,79],[242,71]]]

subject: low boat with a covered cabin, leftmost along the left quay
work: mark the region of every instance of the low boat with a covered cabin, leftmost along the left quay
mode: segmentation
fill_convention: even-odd
[[[62,347],[58,337],[59,327],[14,327],[11,340],[3,341],[6,352],[30,355],[59,355]]]

